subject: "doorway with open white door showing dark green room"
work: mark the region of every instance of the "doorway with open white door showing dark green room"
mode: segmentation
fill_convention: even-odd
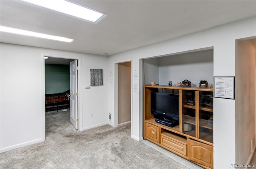
[[[56,118],[49,120],[52,123],[68,120],[78,129],[78,60],[47,56],[44,70],[45,120],[49,120],[46,111],[47,115],[50,111]],[[56,117],[57,114],[61,116]]]

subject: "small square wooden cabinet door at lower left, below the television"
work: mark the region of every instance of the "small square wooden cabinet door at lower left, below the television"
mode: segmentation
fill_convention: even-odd
[[[155,125],[145,123],[145,137],[159,143],[160,128]]]

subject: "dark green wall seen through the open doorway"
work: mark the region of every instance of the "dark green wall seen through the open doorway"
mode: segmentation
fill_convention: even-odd
[[[70,89],[69,65],[45,64],[45,93],[60,93]]]

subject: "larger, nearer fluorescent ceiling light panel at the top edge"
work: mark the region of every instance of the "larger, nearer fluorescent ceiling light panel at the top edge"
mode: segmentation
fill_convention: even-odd
[[[97,12],[95,10],[91,10],[83,6],[73,4],[72,2],[68,2],[65,0],[21,0],[21,1],[28,2],[30,4],[34,4],[44,8],[48,8],[50,10],[54,10],[64,14],[68,14],[84,20],[88,20],[94,23],[96,23],[101,18],[106,16],[106,14],[103,14],[101,12]]]

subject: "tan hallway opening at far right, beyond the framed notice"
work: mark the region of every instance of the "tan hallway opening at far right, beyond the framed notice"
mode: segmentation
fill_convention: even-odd
[[[250,163],[256,147],[255,36],[236,40],[235,59],[236,162]]]

